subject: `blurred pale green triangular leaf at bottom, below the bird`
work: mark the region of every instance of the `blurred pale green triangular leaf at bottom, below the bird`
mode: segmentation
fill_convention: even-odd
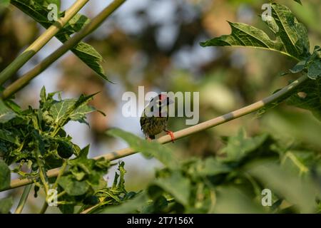
[[[170,177],[158,178],[153,182],[153,185],[157,185],[165,192],[173,195],[177,202],[187,206],[190,197],[190,180],[183,177],[180,172],[173,172]]]

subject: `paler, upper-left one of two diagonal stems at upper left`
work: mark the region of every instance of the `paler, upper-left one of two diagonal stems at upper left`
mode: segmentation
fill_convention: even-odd
[[[32,56],[34,56],[42,47],[48,43],[51,38],[53,38],[58,31],[65,26],[70,19],[77,14],[81,8],[88,2],[89,0],[77,0],[65,13],[64,17],[61,17],[55,23],[50,26],[44,33],[39,36],[39,38],[31,43],[31,45],[24,50],[23,53],[20,54],[9,66],[7,66],[4,71],[0,73],[0,85],[2,85],[5,81],[7,81],[11,76],[18,71],[21,66],[24,65],[27,61],[29,61]]]

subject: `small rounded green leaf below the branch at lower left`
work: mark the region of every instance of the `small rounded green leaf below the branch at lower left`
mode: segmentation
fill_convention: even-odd
[[[88,189],[89,185],[86,181],[77,181],[71,176],[61,177],[58,184],[67,192],[68,195],[83,195]]]

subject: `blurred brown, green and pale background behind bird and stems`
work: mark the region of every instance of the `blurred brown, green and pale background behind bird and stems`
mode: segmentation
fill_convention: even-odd
[[[108,2],[90,1],[81,13],[92,17]],[[17,93],[16,100],[23,107],[37,106],[41,86],[46,86],[48,91],[63,90],[65,97],[101,91],[91,105],[106,113],[106,117],[93,113],[89,116],[91,128],[72,123],[66,128],[78,145],[92,143],[91,156],[126,146],[105,134],[109,128],[122,128],[143,137],[139,116],[125,118],[121,114],[124,103],[122,94],[126,91],[138,93],[138,86],[145,86],[145,92],[200,92],[200,122],[241,108],[270,95],[296,78],[278,76],[295,63],[278,53],[250,48],[201,48],[199,42],[229,34],[227,21],[243,22],[265,30],[259,17],[265,2],[128,0],[111,19],[86,38],[86,42],[103,56],[103,68],[114,84],[94,76],[91,69],[68,52]],[[289,6],[307,26],[311,47],[321,44],[320,0],[303,0],[304,6],[295,1],[277,2]],[[71,3],[63,1],[62,9]],[[41,26],[14,6],[0,11],[0,71],[43,31]],[[59,45],[54,38],[16,77],[39,63]],[[185,118],[170,119],[170,130],[185,127]],[[241,127],[248,135],[271,133],[273,137],[285,140],[285,143],[295,142],[321,152],[320,122],[308,111],[282,104],[264,115],[248,115],[167,146],[181,157],[208,157],[220,150],[222,136],[236,135]],[[128,190],[141,190],[153,179],[154,167],[161,166],[156,160],[146,160],[141,155],[123,160],[128,171]],[[108,178],[113,179],[112,170]],[[19,195],[21,191],[17,189],[10,194]],[[29,197],[29,201],[25,212],[34,212],[42,202],[33,197]]]

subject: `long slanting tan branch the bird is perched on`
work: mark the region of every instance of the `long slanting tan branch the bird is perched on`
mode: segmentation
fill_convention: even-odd
[[[282,88],[281,90],[278,90],[276,93],[273,93],[272,95],[268,96],[267,98],[264,98],[263,100],[259,100],[258,102],[255,102],[251,105],[245,106],[243,108],[240,108],[238,110],[234,110],[233,112],[230,113],[226,113],[225,115],[220,115],[217,118],[213,118],[211,120],[205,121],[203,123],[199,123],[198,125],[193,125],[189,128],[185,128],[183,130],[179,130],[174,134],[175,136],[175,140],[178,140],[180,138],[184,138],[188,135],[192,135],[194,133],[198,133],[202,130],[206,130],[208,128],[213,128],[217,125],[221,125],[223,123],[229,122],[230,120],[234,120],[236,118],[240,118],[243,115],[247,115],[249,113],[253,113],[256,110],[259,110],[260,108],[265,107],[266,105],[276,102],[277,100],[279,100],[280,98],[284,98],[287,95],[289,95],[290,93],[292,93],[292,91],[297,88],[297,86],[300,86],[302,83],[304,83],[305,81],[307,81],[307,76],[301,76],[300,78],[298,78],[296,81],[290,83],[290,85],[285,86],[284,88]],[[160,142],[161,144],[165,144],[167,142],[171,142],[171,138],[170,135],[164,135],[161,138],[158,138],[157,140],[158,142]],[[131,147],[125,148],[125,149],[121,149],[121,150],[116,150],[115,152],[109,152],[106,155],[101,155],[98,157],[93,157],[93,159],[98,159],[101,157],[104,157],[106,160],[116,160],[118,158],[121,157],[126,157],[128,155],[133,155],[135,154],[137,151],[131,149]],[[49,170],[47,172],[47,176],[48,177],[56,177],[59,173],[60,168],[56,168],[53,170]],[[24,179],[24,180],[12,180],[11,181],[11,185],[8,189],[12,189],[12,188],[16,188],[16,187],[21,187],[24,185],[29,185],[32,182],[32,180],[28,180],[28,179]],[[6,189],[6,190],[8,190]]]

